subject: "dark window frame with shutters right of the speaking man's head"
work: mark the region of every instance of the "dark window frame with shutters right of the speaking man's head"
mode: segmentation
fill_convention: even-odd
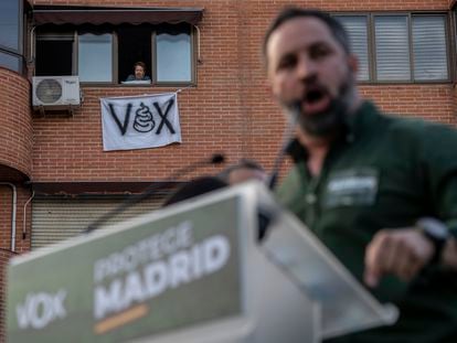
[[[454,31],[451,30],[451,15],[449,11],[375,11],[375,12],[332,12],[332,17],[365,17],[366,18],[366,36],[368,36],[368,50],[369,50],[369,81],[358,81],[360,84],[365,85],[402,85],[402,84],[447,84],[451,83],[456,68],[454,66],[453,58],[453,44],[451,37]],[[443,17],[445,28],[445,42],[446,42],[446,58],[447,58],[447,78],[445,79],[415,79],[414,75],[414,50],[413,50],[413,17]],[[457,15],[457,14],[456,14]],[[375,17],[406,17],[407,19],[407,37],[410,47],[410,71],[411,79],[402,81],[379,81],[376,73],[376,45],[375,45]]]

